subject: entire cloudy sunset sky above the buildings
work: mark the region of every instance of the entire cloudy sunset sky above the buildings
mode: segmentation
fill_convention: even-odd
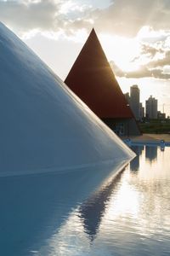
[[[170,115],[170,0],[0,0],[0,20],[61,79],[94,27],[123,92]]]

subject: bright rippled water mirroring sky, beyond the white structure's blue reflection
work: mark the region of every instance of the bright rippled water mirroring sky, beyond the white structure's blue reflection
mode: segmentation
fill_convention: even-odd
[[[73,209],[41,255],[169,255],[170,148],[150,161],[146,148],[134,149],[138,170],[127,166]]]

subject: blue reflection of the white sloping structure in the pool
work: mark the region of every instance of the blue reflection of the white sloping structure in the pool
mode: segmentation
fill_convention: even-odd
[[[114,175],[120,166],[117,168],[112,170],[108,165],[96,170],[91,167],[62,174],[47,172],[1,177],[1,254],[39,255],[39,247],[48,244],[48,238],[59,230],[73,209],[98,189],[105,179]]]

